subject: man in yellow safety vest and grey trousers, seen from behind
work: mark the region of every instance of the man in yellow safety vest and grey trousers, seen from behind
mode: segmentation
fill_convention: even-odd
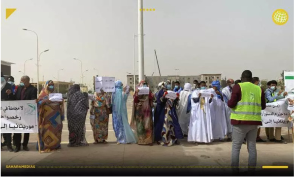
[[[265,109],[264,91],[252,84],[252,72],[245,70],[241,77],[242,83],[232,89],[228,101],[232,109],[230,123],[232,129],[231,166],[234,173],[239,172],[239,155],[244,138],[246,137],[249,160],[248,170],[255,171],[257,162],[256,137],[258,125],[262,125],[261,111]]]

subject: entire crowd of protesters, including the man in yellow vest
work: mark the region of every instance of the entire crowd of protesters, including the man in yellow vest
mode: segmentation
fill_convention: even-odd
[[[128,121],[127,99],[129,87],[121,81],[115,82],[115,92],[82,93],[75,84],[68,90],[66,103],[67,126],[69,131],[68,147],[88,146],[85,139],[85,120],[90,111],[93,130],[93,144],[107,144],[109,115],[112,115],[113,129],[117,144],[139,144],[153,146],[179,145],[180,139],[187,138],[195,145],[216,141],[232,141],[232,165],[238,165],[242,143],[248,145],[250,165],[256,165],[256,142],[266,142],[260,138],[262,125],[261,110],[267,102],[275,102],[288,94],[277,89],[277,82],[267,83],[265,92],[260,87],[258,77],[246,70],[241,80],[229,79],[227,87],[221,88],[219,81],[212,82],[207,89],[206,82],[197,80],[193,86],[186,83],[184,88],[179,82],[172,89],[170,81],[163,81],[153,93],[139,94],[140,87],[149,87],[141,81],[133,94],[131,123]],[[207,89],[209,97],[202,97]],[[168,91],[175,91],[176,98],[170,99]],[[14,78],[7,81],[1,74],[1,100],[36,100],[38,106],[39,140],[37,149],[44,152],[61,148],[63,121],[65,120],[64,101],[52,102],[49,93],[55,92],[53,81],[47,81],[39,94],[30,84],[30,78],[23,76],[20,85],[15,86]],[[89,101],[91,105],[89,106]],[[156,103],[156,106],[154,105]],[[155,107],[154,107],[155,106]],[[284,143],[281,128],[265,128],[270,142]],[[22,134],[3,134],[9,152],[21,150]],[[23,149],[28,151],[29,133],[24,134]],[[15,149],[11,146],[16,146]],[[249,157],[250,158],[250,157]]]

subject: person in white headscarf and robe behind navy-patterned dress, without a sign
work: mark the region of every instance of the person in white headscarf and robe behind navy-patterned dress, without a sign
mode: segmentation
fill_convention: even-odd
[[[184,90],[180,91],[179,95],[179,108],[176,110],[178,122],[184,137],[188,136],[188,129],[191,117],[191,88],[192,85],[189,83],[186,83],[184,85]]]

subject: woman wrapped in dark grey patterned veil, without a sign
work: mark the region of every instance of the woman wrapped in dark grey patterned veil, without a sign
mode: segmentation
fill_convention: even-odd
[[[67,127],[68,140],[67,147],[88,146],[85,139],[85,120],[89,109],[88,94],[81,93],[80,86],[74,84],[68,90],[67,99]]]

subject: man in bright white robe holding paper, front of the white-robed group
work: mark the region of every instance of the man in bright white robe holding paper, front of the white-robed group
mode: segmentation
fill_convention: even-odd
[[[197,145],[197,142],[213,142],[210,103],[214,95],[201,97],[201,92],[206,89],[206,82],[200,82],[200,86],[200,90],[196,89],[192,93],[192,111],[188,133],[188,142],[194,142],[195,145]],[[209,90],[210,93],[214,92],[213,89]]]

